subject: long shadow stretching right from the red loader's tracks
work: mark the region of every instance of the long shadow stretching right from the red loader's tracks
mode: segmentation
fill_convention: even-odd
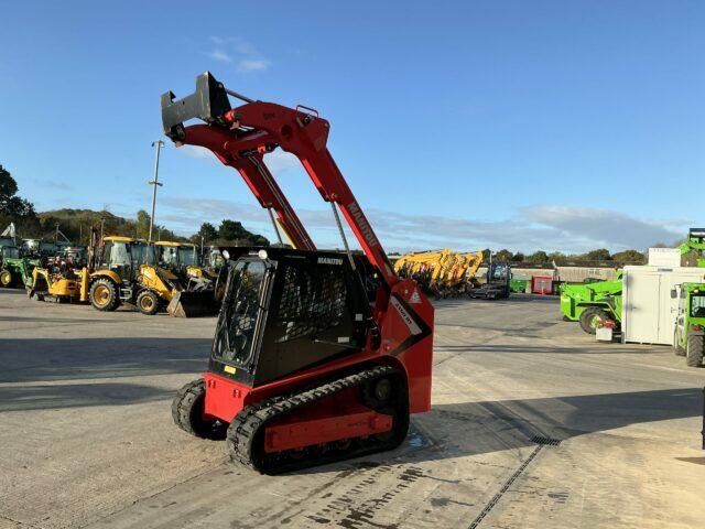
[[[630,424],[699,417],[702,407],[702,388],[434,404],[429,413],[412,417],[409,436],[393,452],[303,473],[517,450],[534,446],[534,436],[565,441]],[[699,427],[693,431],[693,438],[698,436]]]

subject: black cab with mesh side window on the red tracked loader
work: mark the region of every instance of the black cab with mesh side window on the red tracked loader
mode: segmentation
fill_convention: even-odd
[[[224,253],[228,273],[212,373],[259,386],[365,348],[369,304],[345,253]]]

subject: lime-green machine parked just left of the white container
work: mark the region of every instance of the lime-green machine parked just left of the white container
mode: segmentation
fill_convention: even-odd
[[[621,322],[621,272],[611,281],[561,285],[563,319],[579,322],[588,334],[595,334],[600,320]]]

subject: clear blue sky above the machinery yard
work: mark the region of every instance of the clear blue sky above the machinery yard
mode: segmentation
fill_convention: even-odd
[[[388,250],[583,251],[705,224],[705,2],[4,2],[0,163],[39,209],[149,209],[159,97],[209,69],[315,107]],[[169,144],[156,222],[241,219],[239,176]],[[273,172],[321,246],[327,205]]]

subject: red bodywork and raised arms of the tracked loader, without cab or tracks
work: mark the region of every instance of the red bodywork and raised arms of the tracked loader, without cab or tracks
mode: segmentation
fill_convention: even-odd
[[[403,374],[409,413],[427,411],[431,407],[433,306],[415,281],[401,280],[395,274],[365,213],[328,151],[328,121],[307,108],[292,109],[249,99],[243,105],[226,108],[220,114],[214,107],[218,102],[221,107],[229,107],[229,104],[218,101],[214,90],[225,89],[223,85],[206,73],[198,78],[197,87],[202,94],[206,90],[210,94],[212,99],[207,105],[210,115],[198,116],[208,122],[184,126],[180,119],[192,117],[187,110],[174,108],[173,118],[164,118],[163,111],[167,136],[176,144],[206,148],[220,162],[236,169],[260,205],[275,214],[279,226],[291,244],[301,250],[315,251],[312,238],[264,162],[264,154],[276,148],[294,154],[323,199],[334,204],[336,216],[336,206],[343,212],[380,280],[370,307],[373,320],[370,325],[376,327],[378,334],[373,337],[370,333],[364,350],[260,386],[241,384],[225,374],[209,370],[204,374],[205,417],[229,423],[248,406],[289,395],[316,381],[328,380],[337,373],[347,373],[355,366],[366,365],[391,366]],[[188,98],[177,101],[173,99],[174,95],[171,93],[162,96],[162,108],[178,105],[185,108],[191,105]],[[367,438],[391,428],[389,415],[366,408],[359,399],[346,395],[346,391],[348,390],[324,399],[315,409],[303,410],[269,425],[264,451],[296,450],[340,442],[348,438]]]

